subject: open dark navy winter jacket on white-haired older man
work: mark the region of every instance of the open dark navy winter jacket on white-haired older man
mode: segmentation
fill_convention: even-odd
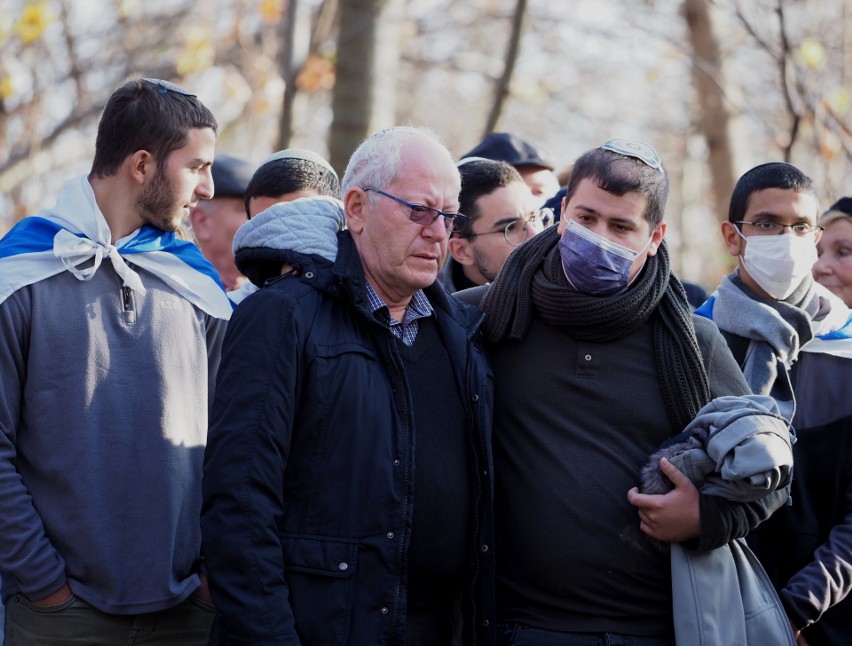
[[[338,242],[333,266],[276,259],[300,275],[251,295],[228,327],[202,509],[219,643],[404,643],[411,396],[394,338],[369,311],[349,233]],[[480,350],[483,315],[438,283],[425,291],[456,374],[446,386],[463,394],[477,476],[457,634],[492,643],[494,388]]]

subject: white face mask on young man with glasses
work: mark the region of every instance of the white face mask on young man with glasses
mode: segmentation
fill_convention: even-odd
[[[743,267],[772,298],[784,300],[798,287],[816,264],[817,252],[813,236],[792,233],[780,236],[750,236]]]

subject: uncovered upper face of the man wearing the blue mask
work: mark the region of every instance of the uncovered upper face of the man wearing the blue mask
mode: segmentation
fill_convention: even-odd
[[[657,253],[666,234],[666,223],[661,222],[651,231],[645,219],[648,196],[644,193],[613,195],[600,188],[594,180],[580,180],[571,201],[562,200],[562,217],[559,234],[565,233],[568,222],[574,220],[607,240],[639,252],[630,267],[633,280],[650,256]],[[650,241],[649,241],[650,238]]]

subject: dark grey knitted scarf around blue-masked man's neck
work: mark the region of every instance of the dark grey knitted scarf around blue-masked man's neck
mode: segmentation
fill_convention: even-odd
[[[590,296],[571,287],[551,227],[509,256],[482,302],[492,342],[523,339],[533,313],[581,341],[624,338],[653,318],[654,358],[666,412],[678,431],[710,401],[707,371],[686,292],[671,273],[663,243],[629,289]]]

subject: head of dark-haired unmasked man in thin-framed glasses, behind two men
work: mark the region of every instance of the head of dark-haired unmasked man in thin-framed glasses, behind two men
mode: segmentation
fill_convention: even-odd
[[[515,247],[542,230],[532,208],[536,200],[512,166],[472,157],[458,167],[459,203],[468,219],[450,237],[450,258],[441,270],[451,292],[493,281]]]

